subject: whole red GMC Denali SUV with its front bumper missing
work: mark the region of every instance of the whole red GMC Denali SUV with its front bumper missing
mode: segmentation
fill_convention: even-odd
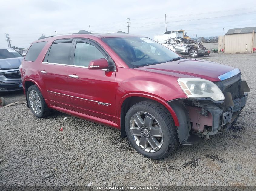
[[[35,116],[54,109],[118,128],[153,159],[231,127],[249,91],[238,68],[124,33],[42,38],[20,72]]]

